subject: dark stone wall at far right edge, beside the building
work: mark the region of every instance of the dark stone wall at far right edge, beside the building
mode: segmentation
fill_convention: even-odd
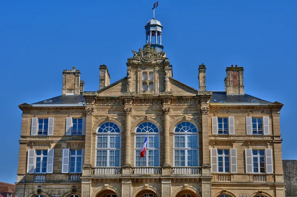
[[[297,197],[297,160],[283,160],[286,197]]]

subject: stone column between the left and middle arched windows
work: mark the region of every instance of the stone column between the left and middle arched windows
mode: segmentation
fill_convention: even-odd
[[[125,164],[123,167],[131,168],[131,112],[132,108],[125,108],[126,122],[125,122]]]

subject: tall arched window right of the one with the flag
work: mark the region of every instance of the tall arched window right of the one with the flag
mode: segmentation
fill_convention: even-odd
[[[181,122],[174,129],[174,166],[198,166],[198,129],[191,122]]]

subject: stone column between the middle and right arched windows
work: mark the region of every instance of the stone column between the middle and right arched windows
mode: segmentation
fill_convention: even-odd
[[[169,137],[169,112],[170,107],[163,108],[164,114],[164,165],[163,167],[170,167],[170,137]]]

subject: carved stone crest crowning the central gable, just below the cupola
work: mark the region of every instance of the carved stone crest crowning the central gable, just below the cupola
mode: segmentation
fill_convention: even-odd
[[[138,52],[136,52],[135,50],[132,50],[132,52],[134,53],[134,56],[130,57],[128,59],[128,62],[131,60],[137,60],[144,63],[150,63],[158,59],[166,58],[163,57],[161,53],[157,52],[156,49],[150,47],[150,44],[144,46],[143,49],[139,48]]]

